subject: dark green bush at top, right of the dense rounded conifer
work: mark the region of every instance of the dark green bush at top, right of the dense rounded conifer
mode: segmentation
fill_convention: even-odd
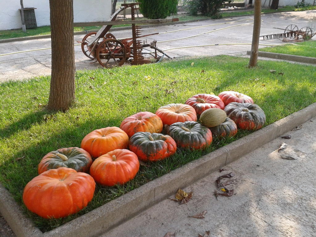
[[[188,11],[191,15],[210,16],[213,19],[222,18],[220,9],[224,3],[232,3],[233,0],[189,0]]]

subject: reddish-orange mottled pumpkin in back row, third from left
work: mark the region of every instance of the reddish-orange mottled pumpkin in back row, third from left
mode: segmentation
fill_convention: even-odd
[[[151,112],[138,112],[123,120],[120,129],[131,137],[136,132],[161,133],[162,121],[159,116]]]

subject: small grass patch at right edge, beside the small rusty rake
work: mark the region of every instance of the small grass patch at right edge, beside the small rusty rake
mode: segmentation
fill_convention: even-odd
[[[259,49],[259,51],[272,52],[272,53],[284,53],[305,57],[316,57],[316,41],[310,40],[300,43],[295,43],[295,45],[288,44],[283,46],[273,46],[265,47]]]

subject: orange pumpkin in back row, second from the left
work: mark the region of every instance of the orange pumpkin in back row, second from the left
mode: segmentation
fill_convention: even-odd
[[[85,149],[94,158],[104,155],[115,149],[128,147],[129,138],[125,131],[118,127],[106,127],[96,129],[87,134],[81,142],[81,148]]]

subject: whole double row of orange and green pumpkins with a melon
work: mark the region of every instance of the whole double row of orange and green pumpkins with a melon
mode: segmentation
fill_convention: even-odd
[[[45,155],[39,175],[25,186],[23,201],[41,217],[65,217],[88,205],[95,182],[112,186],[133,179],[139,160],[165,159],[177,147],[206,149],[213,136],[233,137],[237,128],[257,130],[264,123],[264,112],[252,98],[234,91],[218,96],[197,94],[185,104],[162,106],[155,114],[139,112],[124,119],[120,128],[90,132],[81,148],[62,148]],[[166,134],[161,134],[164,126]]]

